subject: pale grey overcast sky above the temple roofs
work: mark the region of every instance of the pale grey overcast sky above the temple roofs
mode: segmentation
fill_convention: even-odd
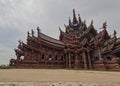
[[[51,37],[59,37],[59,29],[72,19],[72,10],[86,20],[91,20],[100,31],[104,21],[112,35],[117,31],[120,37],[120,0],[0,0],[0,64],[9,64],[16,58],[14,48],[18,40],[26,42],[26,33],[39,26]]]

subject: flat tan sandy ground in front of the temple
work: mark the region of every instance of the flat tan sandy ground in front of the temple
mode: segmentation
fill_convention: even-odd
[[[120,72],[66,69],[0,69],[0,82],[120,83]]]

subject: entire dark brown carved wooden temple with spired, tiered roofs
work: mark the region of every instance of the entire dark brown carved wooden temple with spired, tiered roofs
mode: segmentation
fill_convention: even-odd
[[[28,32],[27,43],[19,41],[15,49],[17,59],[11,59],[10,65],[15,67],[55,67],[81,69],[120,69],[120,38],[114,30],[111,37],[106,30],[106,22],[102,31],[97,32],[93,21],[87,27],[75,15],[65,32],[60,28],[59,40],[41,33],[37,27]]]

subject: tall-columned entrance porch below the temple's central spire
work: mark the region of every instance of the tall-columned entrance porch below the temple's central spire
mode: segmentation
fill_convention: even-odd
[[[67,52],[66,67],[91,69],[92,64],[89,52],[87,51],[80,51],[79,53]]]

